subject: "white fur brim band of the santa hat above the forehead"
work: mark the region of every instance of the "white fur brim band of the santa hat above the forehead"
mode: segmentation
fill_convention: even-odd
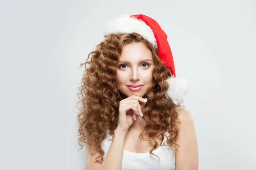
[[[157,48],[157,41],[154,37],[154,32],[152,29],[142,20],[130,17],[129,15],[116,17],[114,20],[109,21],[104,29],[105,35],[135,32],[140,34],[144,39],[151,42],[154,47]]]

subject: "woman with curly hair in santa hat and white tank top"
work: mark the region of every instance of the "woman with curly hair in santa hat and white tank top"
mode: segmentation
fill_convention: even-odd
[[[108,23],[79,88],[79,145],[87,170],[197,170],[186,80],[175,78],[167,35],[145,15]],[[86,65],[90,64],[90,68]]]

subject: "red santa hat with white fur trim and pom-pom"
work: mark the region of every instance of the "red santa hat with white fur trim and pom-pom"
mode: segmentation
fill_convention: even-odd
[[[166,93],[172,99],[175,105],[183,101],[183,96],[188,91],[186,79],[177,79],[175,66],[172,57],[172,51],[167,41],[167,35],[160,25],[152,18],[143,14],[123,15],[107,23],[105,35],[120,33],[137,33],[144,39],[151,42],[158,49],[160,60],[172,72],[172,77],[166,81],[169,83],[169,89]]]

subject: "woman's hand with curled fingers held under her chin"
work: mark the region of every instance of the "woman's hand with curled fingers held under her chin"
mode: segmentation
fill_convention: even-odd
[[[134,123],[137,115],[142,115],[142,108],[145,106],[147,98],[132,95],[123,99],[119,103],[119,115],[117,128],[121,131],[128,132],[129,127]]]

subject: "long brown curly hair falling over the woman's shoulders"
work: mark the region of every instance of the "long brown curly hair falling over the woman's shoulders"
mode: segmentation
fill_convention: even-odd
[[[171,71],[166,68],[166,65],[159,59],[158,50],[148,40],[145,40],[140,34],[110,34],[105,36],[105,40],[96,46],[96,50],[89,53],[86,62],[81,63],[80,67],[85,67],[77,107],[79,114],[77,119],[79,122],[78,134],[80,149],[83,144],[89,145],[89,153],[92,150],[91,142],[95,144],[94,149],[100,153],[96,158],[96,162],[102,163],[97,159],[105,153],[102,150],[101,143],[107,137],[107,130],[110,135],[114,135],[114,130],[117,127],[119,115],[119,102],[121,101],[119,85],[116,81],[117,63],[119,56],[122,54],[124,45],[131,42],[143,42],[143,44],[151,51],[154,61],[152,68],[153,84],[147,89],[145,97],[148,102],[144,106],[145,113],[143,119],[146,126],[143,132],[140,133],[141,140],[153,140],[153,150],[159,147],[156,140],[159,136],[162,137],[161,145],[166,132],[170,135],[167,144],[177,152],[178,144],[175,140],[178,135],[178,125],[180,121],[177,119],[177,107],[169,96],[166,96],[166,91],[169,88],[168,82],[165,80],[172,77]],[[91,55],[91,60],[89,57]],[[90,64],[87,68],[86,65]],[[143,138],[143,133],[148,133],[149,138]],[[143,138],[143,139],[142,139]],[[102,157],[103,158],[103,157]],[[159,159],[159,157],[157,156]],[[160,161],[160,159],[159,159]]]

